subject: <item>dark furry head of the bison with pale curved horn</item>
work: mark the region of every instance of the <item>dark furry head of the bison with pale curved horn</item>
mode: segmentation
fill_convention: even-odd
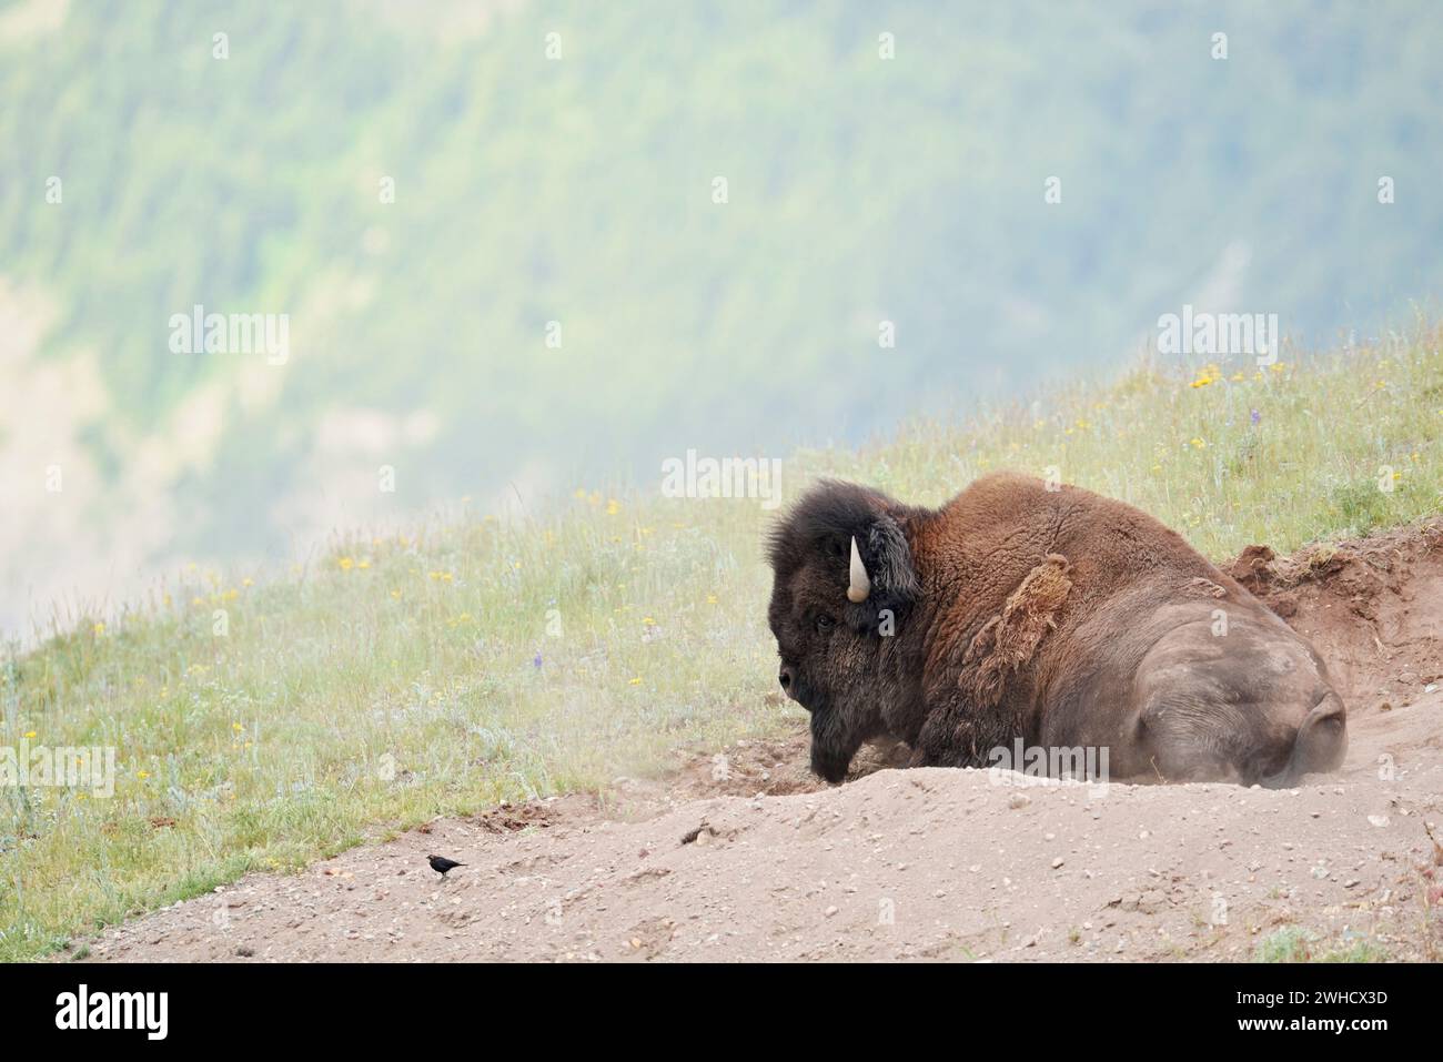
[[[811,713],[811,765],[828,782],[846,778],[905,695],[896,635],[919,596],[909,512],[876,491],[823,482],[772,531],[778,681]]]

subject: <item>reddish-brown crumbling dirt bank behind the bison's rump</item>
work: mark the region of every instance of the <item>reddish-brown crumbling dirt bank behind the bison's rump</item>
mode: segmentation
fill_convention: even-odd
[[[1306,635],[1349,714],[1407,706],[1443,684],[1443,519],[1224,566]]]

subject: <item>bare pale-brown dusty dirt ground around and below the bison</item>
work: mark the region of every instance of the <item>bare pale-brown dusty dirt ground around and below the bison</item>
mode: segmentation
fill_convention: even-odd
[[[444,820],[91,941],[92,960],[1228,960],[1443,957],[1443,522],[1234,574],[1329,659],[1342,772],[1289,791],[1006,785],[892,771],[825,789],[794,737]],[[429,853],[465,861],[449,880]],[[81,952],[87,954],[87,952]]]

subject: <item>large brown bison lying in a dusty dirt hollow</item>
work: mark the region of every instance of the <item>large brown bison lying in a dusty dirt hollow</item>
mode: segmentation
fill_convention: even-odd
[[[1280,786],[1342,762],[1307,639],[1131,505],[1013,473],[939,509],[823,480],[769,547],[778,678],[830,782],[864,742],[911,766],[1100,749],[1114,781]]]

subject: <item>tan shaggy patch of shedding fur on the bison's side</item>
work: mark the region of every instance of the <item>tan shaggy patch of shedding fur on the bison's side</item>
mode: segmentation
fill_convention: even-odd
[[[978,707],[991,707],[1001,700],[1009,675],[1032,659],[1043,636],[1058,625],[1058,613],[1068,599],[1072,566],[1059,553],[1049,553],[1027,573],[1012,592],[1001,613],[987,620],[967,646],[964,664],[975,667],[962,671],[962,685]]]

